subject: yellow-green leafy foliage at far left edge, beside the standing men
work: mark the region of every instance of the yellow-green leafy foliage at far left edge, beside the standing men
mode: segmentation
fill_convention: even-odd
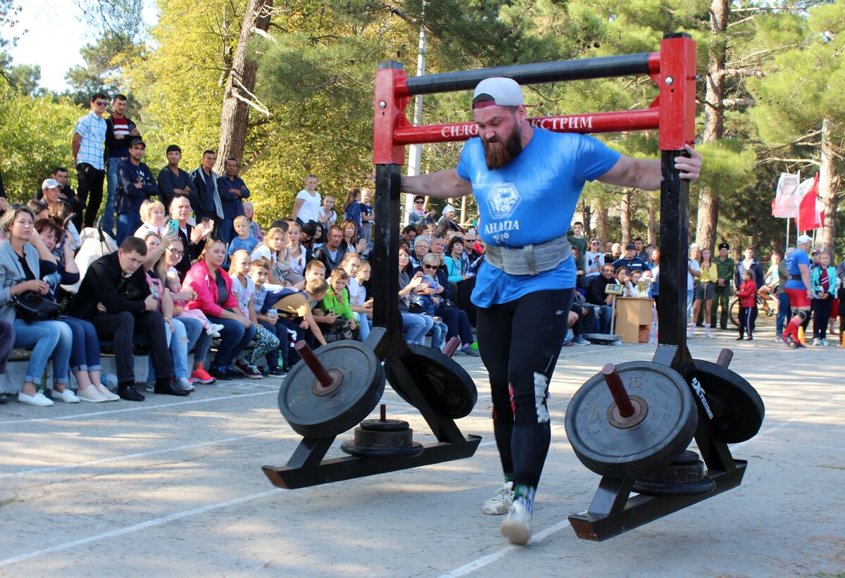
[[[33,197],[56,166],[70,167],[70,141],[83,114],[70,101],[24,95],[0,79],[0,171],[10,202]]]

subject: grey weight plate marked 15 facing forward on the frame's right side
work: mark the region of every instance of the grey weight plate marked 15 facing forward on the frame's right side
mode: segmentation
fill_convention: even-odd
[[[659,363],[629,362],[616,366],[629,395],[646,401],[645,419],[632,428],[608,421],[613,396],[601,373],[588,379],[566,410],[566,435],[575,455],[593,472],[636,478],[657,472],[690,445],[698,412],[690,386],[681,375]]]

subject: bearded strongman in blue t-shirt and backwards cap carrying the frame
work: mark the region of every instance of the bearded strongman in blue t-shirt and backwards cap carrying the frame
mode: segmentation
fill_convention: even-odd
[[[548,382],[575,292],[566,237],[575,204],[584,183],[596,179],[660,188],[660,161],[620,155],[590,136],[532,128],[512,79],[482,80],[472,96],[478,138],[466,142],[457,168],[402,177],[401,188],[445,198],[476,195],[486,249],[472,302],[505,479],[483,510],[507,513],[502,534],[524,544],[551,439]],[[690,157],[679,157],[675,167],[682,178],[695,180],[701,155],[685,148]]]

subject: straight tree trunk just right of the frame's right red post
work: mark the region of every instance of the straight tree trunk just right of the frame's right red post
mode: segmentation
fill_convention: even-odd
[[[702,140],[713,143],[722,138],[725,123],[725,111],[722,98],[725,95],[725,57],[727,53],[728,0],[713,0],[710,5],[710,31],[712,34],[709,59],[707,63],[706,93],[704,98],[704,133]],[[718,201],[716,195],[706,188],[701,188],[698,200],[698,225],[695,230],[695,243],[701,248],[713,247],[716,243],[716,224],[718,220]]]

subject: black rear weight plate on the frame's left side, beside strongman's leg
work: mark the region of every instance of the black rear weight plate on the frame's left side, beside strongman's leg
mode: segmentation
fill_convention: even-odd
[[[469,415],[478,401],[478,390],[466,369],[431,347],[410,343],[408,348],[411,353],[402,361],[428,403],[452,419]],[[411,403],[401,386],[395,390]]]

